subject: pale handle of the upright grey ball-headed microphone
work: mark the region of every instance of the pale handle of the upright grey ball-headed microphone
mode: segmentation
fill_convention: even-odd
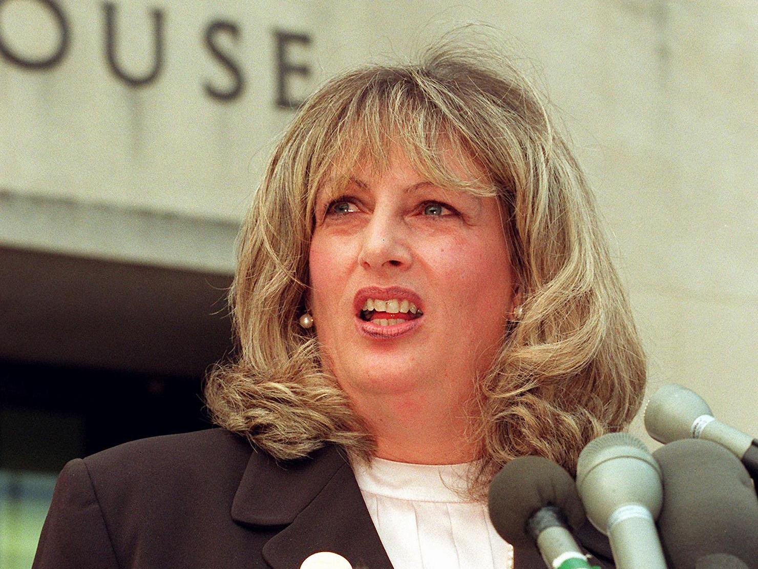
[[[608,537],[616,569],[666,569],[656,524],[647,509],[630,505],[616,510],[609,519]]]

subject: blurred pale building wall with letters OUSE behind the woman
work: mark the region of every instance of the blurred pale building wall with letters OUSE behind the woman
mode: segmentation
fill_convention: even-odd
[[[208,426],[236,228],[299,102],[468,22],[572,134],[651,391],[758,435],[753,0],[4,0],[0,566],[29,566],[65,461]]]

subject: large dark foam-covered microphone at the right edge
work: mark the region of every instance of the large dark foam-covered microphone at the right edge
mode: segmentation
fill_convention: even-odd
[[[658,529],[673,567],[722,567],[716,561],[728,556],[758,561],[758,498],[734,454],[715,442],[684,439],[653,457],[663,472]]]

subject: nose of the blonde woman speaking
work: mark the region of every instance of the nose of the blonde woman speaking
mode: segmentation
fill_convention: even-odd
[[[400,220],[374,214],[362,234],[360,266],[374,270],[407,269],[412,254],[405,229]]]

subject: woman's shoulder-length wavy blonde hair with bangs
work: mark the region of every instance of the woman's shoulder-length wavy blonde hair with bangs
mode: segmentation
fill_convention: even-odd
[[[215,423],[286,461],[327,442],[370,457],[374,440],[299,327],[315,194],[360,161],[405,152],[434,184],[500,199],[522,296],[468,436],[481,449],[471,492],[514,457],[569,471],[591,439],[624,429],[641,404],[645,360],[594,198],[540,93],[493,52],[443,46],[418,64],[372,65],[314,93],[283,134],[239,237],[230,303],[240,351],[209,374]],[[443,156],[487,172],[464,181]],[[459,155],[460,156],[460,155]]]

